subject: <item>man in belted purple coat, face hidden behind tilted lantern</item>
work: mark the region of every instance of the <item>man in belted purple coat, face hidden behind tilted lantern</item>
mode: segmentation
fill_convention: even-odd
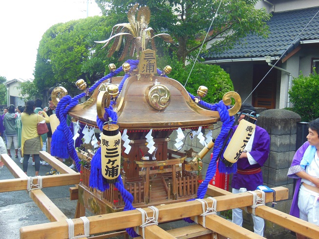
[[[251,104],[242,104],[240,112],[251,113],[256,111]],[[238,122],[244,118],[244,114],[240,116]],[[234,127],[236,130],[237,125]],[[261,167],[268,159],[270,151],[270,137],[266,130],[256,125],[253,135],[249,139],[244,152],[237,161],[237,172],[234,173],[232,179],[232,192],[239,193],[240,188],[246,188],[248,191],[256,190],[257,186],[263,184]],[[260,236],[264,234],[264,219],[252,215],[254,221],[254,232]],[[242,210],[233,209],[232,221],[242,226]]]

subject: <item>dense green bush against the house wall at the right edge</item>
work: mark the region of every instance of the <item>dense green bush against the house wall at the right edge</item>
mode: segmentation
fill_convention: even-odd
[[[314,71],[308,77],[300,75],[293,80],[289,91],[292,110],[300,115],[301,120],[310,121],[319,118],[319,74]]]

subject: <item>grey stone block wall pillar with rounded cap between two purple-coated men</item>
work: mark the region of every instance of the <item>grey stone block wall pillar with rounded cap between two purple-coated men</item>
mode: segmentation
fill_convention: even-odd
[[[274,207],[284,213],[289,213],[294,193],[294,180],[287,177],[287,172],[296,152],[297,122],[300,119],[292,111],[271,109],[261,112],[257,121],[257,125],[270,135],[270,154],[262,167],[264,184],[270,188],[282,186],[289,190],[288,200],[279,201]],[[266,237],[284,231],[284,228],[266,221]]]

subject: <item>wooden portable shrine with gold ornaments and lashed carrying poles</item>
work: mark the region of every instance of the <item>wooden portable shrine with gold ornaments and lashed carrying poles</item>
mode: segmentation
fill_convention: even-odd
[[[147,43],[155,37],[152,29],[147,28],[149,9],[139,8],[137,20],[141,22],[131,24],[136,23],[137,9],[138,5],[134,5],[128,14],[130,23],[116,25],[113,28],[115,35],[103,43],[115,39],[110,49],[110,53],[114,53],[120,48],[122,37],[127,36],[124,53],[128,53],[132,43],[131,52],[133,54],[136,49],[138,60],[128,60],[118,69],[110,64],[111,73],[108,77],[102,78],[89,89],[83,80],[77,81],[76,85],[89,99],[68,111],[74,121],[102,131],[100,152],[109,150],[107,140],[103,141],[105,131],[109,133],[109,129],[115,128],[114,131],[122,134],[122,144],[117,145],[121,151],[121,167],[116,165],[111,171],[110,162],[111,165],[117,162],[109,160],[105,165],[105,159],[100,157],[100,163],[106,171],[103,177],[107,176],[109,183],[109,188],[102,191],[91,186],[93,161],[99,150],[95,154],[84,150],[76,152],[77,167],[80,167],[81,162],[80,173],[41,151],[40,157],[61,174],[32,178],[27,177],[7,154],[2,154],[2,162],[16,179],[0,180],[0,192],[27,190],[30,198],[50,220],[49,223],[21,227],[20,238],[102,239],[120,235],[128,238],[127,228],[137,228],[140,236],[136,238],[147,239],[262,238],[217,216],[217,212],[246,207],[249,213],[265,220],[308,238],[319,238],[318,226],[265,205],[267,202],[288,199],[288,189],[284,187],[273,188],[274,192],[269,193],[256,190],[232,194],[208,185],[207,198],[190,200],[197,197],[198,188],[202,185],[202,162],[198,159],[213,148],[213,141],[204,146],[196,157],[187,160],[186,154],[169,149],[171,132],[212,127],[213,123],[221,120],[221,116],[218,111],[207,110],[199,105],[207,93],[206,87],[199,87],[198,95],[192,98],[178,81],[167,77],[170,66],[165,67],[163,72],[157,69],[155,51],[146,48]],[[129,33],[133,26],[126,24],[135,26],[136,31]],[[167,34],[159,35],[166,41],[171,40]],[[124,77],[115,76],[120,71],[125,72]],[[57,105],[57,111],[67,98],[66,95],[67,91],[63,87],[53,90],[52,100]],[[229,116],[235,115],[241,106],[241,99],[235,92],[225,94],[223,104],[230,105],[231,99],[235,103],[228,109]],[[117,117],[116,124],[112,124],[114,115]],[[101,122],[106,124],[100,126]],[[121,142],[121,138],[118,140]],[[114,186],[119,180],[127,195],[133,196],[131,203],[136,210],[124,211],[128,201]],[[75,219],[68,219],[41,190],[70,184],[74,184],[70,188],[70,199],[77,200]],[[86,210],[94,216],[85,217]],[[197,223],[169,231],[158,226],[158,223],[185,218]]]

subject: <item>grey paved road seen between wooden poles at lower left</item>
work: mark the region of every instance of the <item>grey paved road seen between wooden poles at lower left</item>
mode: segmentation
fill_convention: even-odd
[[[20,157],[14,158],[14,150],[11,150],[11,155],[22,168]],[[20,155],[20,151],[18,155]],[[27,174],[32,177],[35,174],[35,169],[31,161],[29,160]],[[65,163],[70,165],[70,162]],[[41,165],[39,173],[45,175],[50,169],[50,165]],[[2,179],[14,179],[5,166],[0,169],[0,180]],[[77,201],[69,199],[70,186],[43,188],[42,190],[68,218],[74,218]],[[26,191],[0,193],[0,215],[0,239],[18,239],[20,227],[49,222]]]

